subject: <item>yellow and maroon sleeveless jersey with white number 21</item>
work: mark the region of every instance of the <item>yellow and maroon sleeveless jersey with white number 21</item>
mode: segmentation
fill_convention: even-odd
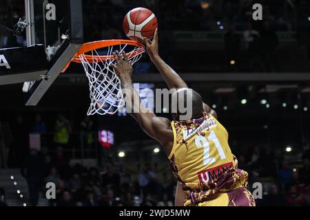
[[[174,175],[195,206],[218,192],[247,186],[248,174],[237,168],[225,127],[204,113],[203,118],[172,122],[174,146],[169,155]]]

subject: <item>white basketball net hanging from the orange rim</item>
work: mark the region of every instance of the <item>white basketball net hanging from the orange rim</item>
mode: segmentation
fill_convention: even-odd
[[[139,46],[117,45],[106,47],[105,55],[111,56],[116,50],[121,54],[126,48],[128,49],[127,51],[131,51],[127,53],[127,56],[129,60],[132,61],[132,65],[134,65],[144,52]],[[91,62],[87,55],[92,55]],[[106,61],[103,61],[103,55],[97,52],[97,50],[92,50],[92,52],[87,53],[87,55],[82,54],[78,57],[83,64],[90,84],[91,102],[87,115],[94,115],[96,113],[99,115],[113,115],[125,106],[123,93],[121,91],[121,80],[116,76],[115,70],[111,66],[114,62],[114,58],[111,56]]]

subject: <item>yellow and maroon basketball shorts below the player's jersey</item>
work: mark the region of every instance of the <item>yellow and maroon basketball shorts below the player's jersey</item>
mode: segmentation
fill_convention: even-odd
[[[212,195],[198,206],[256,206],[254,197],[245,187]]]

